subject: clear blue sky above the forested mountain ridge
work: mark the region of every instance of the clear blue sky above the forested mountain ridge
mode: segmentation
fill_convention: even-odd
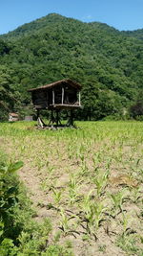
[[[118,30],[143,28],[143,0],[0,0],[0,34],[51,12]]]

